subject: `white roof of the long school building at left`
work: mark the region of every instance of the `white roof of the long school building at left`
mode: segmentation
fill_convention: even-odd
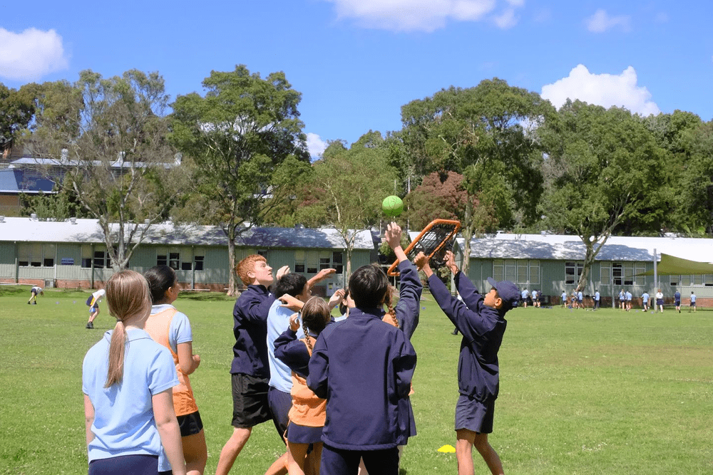
[[[118,228],[116,224],[112,227]],[[0,241],[101,244],[104,239],[98,219],[39,221],[32,218],[6,217],[0,222]],[[143,242],[227,246],[227,237],[217,226],[161,223],[150,226]],[[336,229],[331,228],[251,228],[245,231],[235,244],[255,248],[344,249],[344,240]],[[358,232],[354,249],[374,249],[374,242],[368,230]]]

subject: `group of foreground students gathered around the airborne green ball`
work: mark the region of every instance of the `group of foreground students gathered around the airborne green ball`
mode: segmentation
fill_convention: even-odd
[[[334,269],[307,281],[281,268],[275,282],[264,257],[238,263],[247,289],[233,310],[233,432],[220,451],[216,474],[230,471],[252,427],[269,420],[286,450],[267,474],[356,474],[360,465],[372,475],[399,474],[401,451],[416,435],[409,395],[416,369],[410,340],[423,289],[419,268],[438,306],[463,334],[455,411],[458,474],[474,473],[473,447],[491,473],[503,473],[488,434],[498,397],[504,317],[518,306],[518,288],[488,278],[492,288],[481,295],[449,252],[446,265],[460,296],[455,298],[423,253],[414,263],[407,259],[398,225],[389,224],[385,240],[399,261],[396,305],[395,289],[375,265],[354,271],[348,288],[325,302],[311,296],[312,286]],[[83,362],[91,475],[205,470],[205,437],[188,377],[200,357],[193,354],[188,317],[173,306],[178,292],[168,266],[143,276],[120,271],[106,283],[116,326]],[[338,305],[347,318],[336,322],[332,309]]]

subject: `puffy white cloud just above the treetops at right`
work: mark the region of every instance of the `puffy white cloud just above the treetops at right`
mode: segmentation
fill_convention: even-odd
[[[605,108],[616,105],[643,116],[661,112],[652,102],[649,90],[637,85],[636,71],[631,66],[620,75],[612,75],[590,73],[580,64],[568,77],[544,85],[541,95],[558,109],[569,98]]]

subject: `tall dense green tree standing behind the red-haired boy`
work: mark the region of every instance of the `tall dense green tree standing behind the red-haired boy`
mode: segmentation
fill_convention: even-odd
[[[172,140],[195,170],[195,216],[227,236],[229,293],[235,294],[235,240],[287,199],[286,178],[308,167],[297,111],[302,95],[284,73],[263,79],[245,66],[212,71],[202,85],[205,96],[181,95],[173,103]]]

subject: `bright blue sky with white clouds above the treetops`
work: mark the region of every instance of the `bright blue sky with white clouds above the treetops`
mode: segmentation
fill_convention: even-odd
[[[172,98],[210,71],[284,71],[313,156],[401,128],[401,106],[501,78],[560,106],[713,119],[711,0],[35,1],[0,6],[0,82],[158,71]]]

